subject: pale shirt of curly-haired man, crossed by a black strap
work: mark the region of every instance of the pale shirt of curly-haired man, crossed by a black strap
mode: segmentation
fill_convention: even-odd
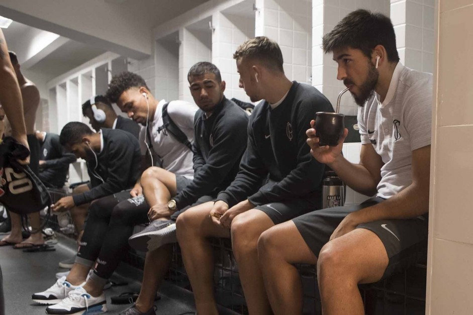
[[[159,101],[154,113],[154,119],[148,124],[149,135],[151,137],[152,149],[161,157],[162,168],[187,178],[194,178],[193,153],[184,144],[180,143],[173,136],[158,129],[163,126],[162,107],[166,101]],[[187,136],[187,139],[194,143],[194,116],[199,108],[195,104],[183,100],[172,100],[167,106],[167,113],[172,121]],[[141,154],[146,153],[144,139],[146,127],[141,126],[140,130],[140,148]],[[149,141],[149,139],[148,139]],[[151,146],[150,146],[151,147]]]

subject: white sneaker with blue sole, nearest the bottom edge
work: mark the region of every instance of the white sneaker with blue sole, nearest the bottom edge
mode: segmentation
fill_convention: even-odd
[[[102,314],[107,311],[107,300],[102,293],[98,297],[88,294],[83,287],[79,286],[69,292],[69,295],[55,305],[46,308],[46,314],[60,315],[92,315]]]

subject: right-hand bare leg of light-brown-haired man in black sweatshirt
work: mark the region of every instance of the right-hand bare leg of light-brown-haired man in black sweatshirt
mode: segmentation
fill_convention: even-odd
[[[232,247],[250,314],[272,313],[264,290],[261,269],[258,268],[257,245],[261,233],[273,226],[272,220],[258,209],[244,212],[232,222]]]

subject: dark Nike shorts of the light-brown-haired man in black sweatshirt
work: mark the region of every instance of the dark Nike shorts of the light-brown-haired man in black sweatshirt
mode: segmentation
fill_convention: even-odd
[[[319,209],[320,197],[271,202],[254,208],[264,212],[276,225]]]

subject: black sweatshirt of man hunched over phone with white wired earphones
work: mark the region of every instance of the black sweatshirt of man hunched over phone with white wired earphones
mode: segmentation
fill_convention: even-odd
[[[141,153],[138,140],[130,133],[118,129],[101,129],[103,150],[87,160],[87,171],[92,189],[73,195],[74,204],[92,200],[133,187],[140,176]],[[97,167],[96,167],[97,166]],[[95,175],[103,178],[102,182]]]

